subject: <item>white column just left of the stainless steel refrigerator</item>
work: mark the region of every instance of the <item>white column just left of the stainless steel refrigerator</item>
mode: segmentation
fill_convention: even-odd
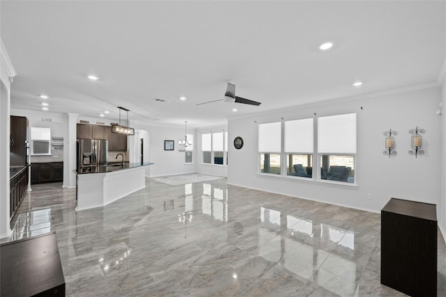
[[[63,136],[63,187],[75,188],[76,175],[76,141],[77,141],[77,113],[68,113],[66,128]]]

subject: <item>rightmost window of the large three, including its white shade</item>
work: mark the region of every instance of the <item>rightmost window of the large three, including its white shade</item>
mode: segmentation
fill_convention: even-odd
[[[355,182],[356,113],[318,118],[321,179]]]

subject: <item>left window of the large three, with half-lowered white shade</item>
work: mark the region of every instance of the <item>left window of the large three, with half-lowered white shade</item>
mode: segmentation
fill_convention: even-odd
[[[259,125],[260,172],[281,173],[282,123],[271,122]]]

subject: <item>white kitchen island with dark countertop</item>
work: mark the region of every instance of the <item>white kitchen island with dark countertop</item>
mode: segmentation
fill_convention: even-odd
[[[145,166],[153,163],[118,163],[85,166],[77,175],[77,211],[103,207],[146,186]]]

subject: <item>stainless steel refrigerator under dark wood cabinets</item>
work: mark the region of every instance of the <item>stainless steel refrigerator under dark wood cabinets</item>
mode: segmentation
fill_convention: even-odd
[[[102,139],[77,140],[77,168],[107,164],[109,141]]]

